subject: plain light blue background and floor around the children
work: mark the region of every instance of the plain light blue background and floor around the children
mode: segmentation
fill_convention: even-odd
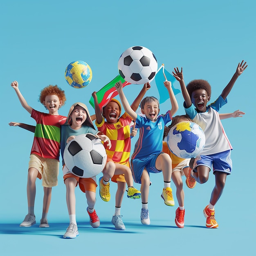
[[[253,0],[9,0],[2,3],[1,254],[254,255],[255,7]],[[246,115],[222,122],[234,147],[231,154],[234,168],[216,204],[219,228],[206,229],[202,214],[214,186],[212,173],[206,184],[197,184],[195,189],[188,189],[184,184],[184,229],[176,228],[174,222],[177,200],[175,207],[164,205],[160,198],[162,174],[155,174],[151,176],[153,184],[148,205],[150,226],[140,223],[141,201],[124,198],[121,214],[126,231],[114,229],[111,218],[115,210],[116,184],[111,183],[110,202],[103,202],[97,191],[95,209],[101,219],[98,229],[90,227],[85,195],[76,189],[80,236],[73,240],[61,239],[69,223],[61,169],[59,185],[52,191],[48,214],[50,228],[38,228],[43,200],[39,180],[35,202],[37,224],[20,228],[27,213],[27,166],[33,134],[9,127],[8,123],[34,124],[34,119],[22,108],[10,83],[17,80],[29,105],[39,111],[45,111],[38,102],[40,90],[57,84],[67,96],[59,114],[67,115],[70,106],[81,101],[92,115],[94,111],[88,102],[92,92],[117,76],[119,56],[134,45],[149,48],[159,66],[164,63],[169,72],[176,66],[183,66],[186,83],[192,79],[208,80],[212,86],[212,101],[227,85],[238,62],[244,59],[248,63],[222,110],[240,109]],[[92,82],[87,88],[73,89],[65,81],[65,67],[76,60],[83,60],[92,68]],[[174,86],[179,88],[177,82]],[[124,89],[130,103],[140,89],[140,85]],[[159,97],[154,81],[147,95]],[[181,94],[177,95],[177,101],[180,106],[177,115],[182,115]],[[169,108],[168,100],[161,104],[160,112]],[[138,184],[135,186],[139,188]],[[175,191],[174,185],[172,187]]]

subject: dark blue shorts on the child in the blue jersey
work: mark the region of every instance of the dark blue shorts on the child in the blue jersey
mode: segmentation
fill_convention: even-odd
[[[157,155],[154,155],[153,157],[146,157],[143,159],[131,159],[131,170],[132,170],[132,177],[134,182],[141,184],[141,175],[143,173],[144,168],[148,171],[149,173],[160,173],[162,172],[157,170],[155,168],[155,161],[157,160],[157,157],[164,152],[160,152]]]

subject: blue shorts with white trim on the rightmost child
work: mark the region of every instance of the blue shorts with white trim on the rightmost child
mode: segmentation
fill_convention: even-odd
[[[207,166],[211,170],[213,166],[213,173],[219,171],[222,173],[231,174],[232,160],[230,158],[231,150],[223,151],[212,155],[199,155],[195,157],[193,164],[193,171],[197,172],[196,168],[200,165]]]

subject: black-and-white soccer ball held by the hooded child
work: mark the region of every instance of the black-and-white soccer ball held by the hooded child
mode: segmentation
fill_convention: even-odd
[[[69,141],[63,159],[68,170],[74,175],[90,178],[103,170],[107,155],[101,140],[87,133]]]

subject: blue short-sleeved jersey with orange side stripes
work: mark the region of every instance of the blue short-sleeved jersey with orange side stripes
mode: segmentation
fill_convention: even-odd
[[[139,128],[139,139],[131,159],[153,157],[162,152],[164,126],[171,120],[170,110],[165,115],[159,115],[155,122],[137,115],[136,128]]]

